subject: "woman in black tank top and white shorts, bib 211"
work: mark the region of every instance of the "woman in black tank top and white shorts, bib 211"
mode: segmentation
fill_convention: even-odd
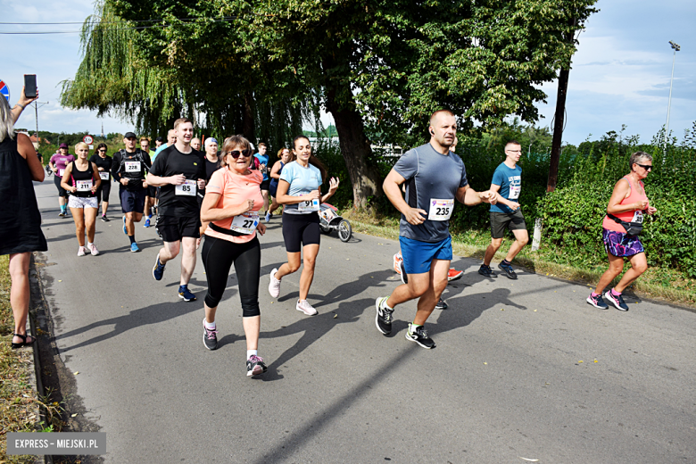
[[[99,208],[96,189],[102,183],[94,162],[87,160],[89,146],[80,142],[75,145],[78,159],[70,162],[62,176],[61,186],[70,193],[68,207],[75,220],[75,233],[78,236],[78,256],[87,252],[92,256],[99,254],[95,245],[96,211]],[[85,248],[85,231],[87,230],[87,248]]]

